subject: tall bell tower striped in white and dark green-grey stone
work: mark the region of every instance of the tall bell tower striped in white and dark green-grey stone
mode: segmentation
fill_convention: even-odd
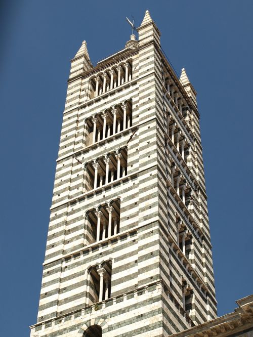
[[[196,92],[148,11],[71,60],[31,336],[167,336],[216,317]]]

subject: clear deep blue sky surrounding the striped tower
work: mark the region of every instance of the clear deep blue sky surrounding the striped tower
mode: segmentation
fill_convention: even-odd
[[[5,3],[5,4],[3,4]],[[66,80],[82,40],[93,64],[145,10],[198,93],[218,314],[253,293],[252,0],[1,2],[1,325],[36,322]]]

